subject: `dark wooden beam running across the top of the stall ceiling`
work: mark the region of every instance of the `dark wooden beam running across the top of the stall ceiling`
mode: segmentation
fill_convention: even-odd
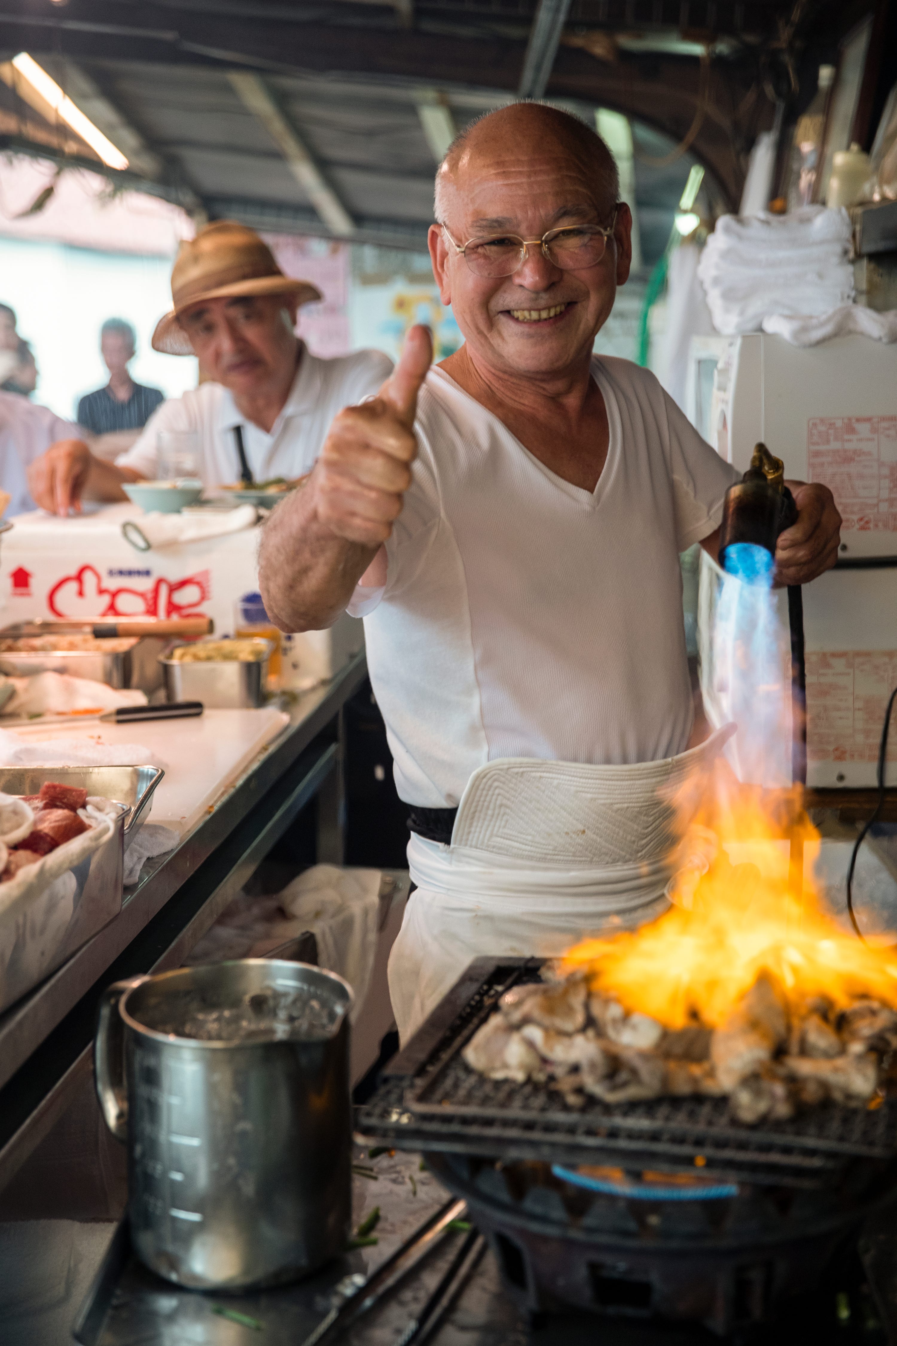
[[[210,26],[191,12],[176,16],[153,5],[139,11],[104,0],[81,7],[90,23],[73,26],[62,17],[31,23],[24,0],[0,0],[0,48],[42,50],[62,46],[73,59],[203,63],[242,66],[280,74],[321,74],[377,79],[421,79],[451,90],[455,86],[516,93],[524,42],[491,39],[481,34],[429,34],[416,28],[378,28],[336,24],[249,24],[226,15]],[[348,8],[348,7],[347,7]],[[101,24],[114,11],[117,24]],[[81,11],[79,11],[81,12]],[[134,13],[134,27],[121,24],[122,12]],[[139,27],[137,27],[139,13]],[[176,31],[173,24],[178,24]],[[772,124],[772,105],[763,96],[750,101],[756,69],[750,59],[714,61],[707,112],[694,140],[695,153],[715,178],[730,209],[737,209],[744,184],[746,151],[760,129]],[[578,98],[612,108],[680,140],[701,100],[698,61],[676,57],[621,54],[601,61],[588,51],[562,44],[557,52],[549,98]],[[738,117],[736,109],[745,100]]]

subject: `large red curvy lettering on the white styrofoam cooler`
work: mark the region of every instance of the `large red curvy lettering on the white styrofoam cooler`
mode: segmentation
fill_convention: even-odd
[[[27,571],[12,572],[31,576]],[[157,579],[148,590],[106,588],[100,571],[82,565],[74,575],[63,575],[47,594],[47,607],[54,616],[77,621],[79,618],[109,616],[196,616],[202,603],[211,598],[208,571],[187,575],[183,580]]]

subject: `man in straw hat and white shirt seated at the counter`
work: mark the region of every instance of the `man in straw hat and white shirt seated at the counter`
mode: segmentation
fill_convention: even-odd
[[[206,489],[303,476],[334,416],[377,392],[391,370],[375,350],[312,355],[296,336],[296,314],[320,299],[319,291],[285,276],[258,234],[233,221],[207,225],[182,244],[171,295],[153,349],[196,355],[208,381],[163,402],[114,463],[94,456],[83,440],[52,444],[28,472],[43,509],[66,516],[82,498],[125,499],[122,482],[159,475],[164,432],[192,435]]]

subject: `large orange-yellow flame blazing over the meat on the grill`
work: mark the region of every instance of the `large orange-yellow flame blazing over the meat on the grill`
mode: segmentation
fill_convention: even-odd
[[[713,785],[713,804],[675,852],[676,905],[639,930],[584,940],[563,956],[562,975],[585,969],[593,989],[670,1028],[695,1016],[718,1027],[764,970],[795,1001],[822,995],[846,1008],[871,996],[897,1008],[897,950],[845,934],[807,878],[802,895],[788,887],[788,833],[807,845],[810,872],[819,844],[799,791],[764,794],[740,786],[725,767]],[[733,864],[725,845],[736,856],[763,856],[763,870]]]

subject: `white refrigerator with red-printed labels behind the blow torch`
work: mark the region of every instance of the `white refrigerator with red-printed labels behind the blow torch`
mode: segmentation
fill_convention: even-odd
[[[807,783],[874,786],[885,707],[897,686],[897,346],[866,336],[806,349],[760,332],[732,338],[698,428],[742,472],[763,440],[784,460],[785,478],[823,482],[834,493],[843,517],[838,565],[803,590]],[[699,645],[709,712],[707,625],[718,580],[703,557]],[[787,625],[784,594],[779,602]],[[764,783],[789,779],[791,747],[781,738],[779,779]],[[897,760],[897,734],[890,739],[889,760]]]

